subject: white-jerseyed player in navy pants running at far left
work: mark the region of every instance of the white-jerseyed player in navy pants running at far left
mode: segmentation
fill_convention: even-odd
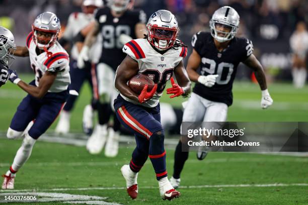
[[[18,77],[16,71],[9,69],[10,81],[28,92],[28,95],[20,102],[7,137],[9,139],[21,137],[28,124],[31,121],[34,123],[24,134],[25,138],[12,166],[3,175],[5,177],[3,189],[14,188],[16,172],[28,160],[36,140],[56,119],[68,97],[69,58],[57,42],[60,28],[60,20],[55,14],[51,12],[40,14],[26,39],[27,46],[17,46],[16,56],[30,56],[35,80],[26,84]]]

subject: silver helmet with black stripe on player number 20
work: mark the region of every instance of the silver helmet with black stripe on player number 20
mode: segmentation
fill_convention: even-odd
[[[214,12],[209,24],[213,38],[218,42],[229,41],[237,34],[240,24],[240,16],[232,7],[221,7]],[[218,31],[216,29],[217,24],[229,27],[230,32]]]

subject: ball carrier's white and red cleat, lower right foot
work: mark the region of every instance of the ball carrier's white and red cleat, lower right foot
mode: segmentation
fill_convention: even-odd
[[[163,200],[172,200],[181,196],[181,193],[173,188],[167,176],[159,180],[159,186]]]

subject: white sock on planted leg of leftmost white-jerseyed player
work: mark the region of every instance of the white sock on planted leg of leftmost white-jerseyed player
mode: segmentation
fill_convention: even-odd
[[[13,170],[18,171],[29,159],[35,142],[36,140],[30,137],[28,133],[25,135],[25,139],[23,140],[22,146],[18,149],[16,156],[14,158],[12,164]]]

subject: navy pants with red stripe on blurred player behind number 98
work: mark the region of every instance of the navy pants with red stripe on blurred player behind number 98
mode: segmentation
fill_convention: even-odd
[[[69,62],[69,67],[70,67],[69,74],[71,79],[69,89],[76,90],[77,92],[79,92],[85,80],[87,80],[92,88],[91,105],[92,108],[96,110],[97,107],[96,104],[98,99],[96,65],[91,64],[90,62],[85,62],[85,67],[83,69],[79,69],[77,67],[77,61],[72,59]],[[76,95],[69,95],[63,110],[66,112],[70,112],[73,109],[77,97],[78,96]]]

